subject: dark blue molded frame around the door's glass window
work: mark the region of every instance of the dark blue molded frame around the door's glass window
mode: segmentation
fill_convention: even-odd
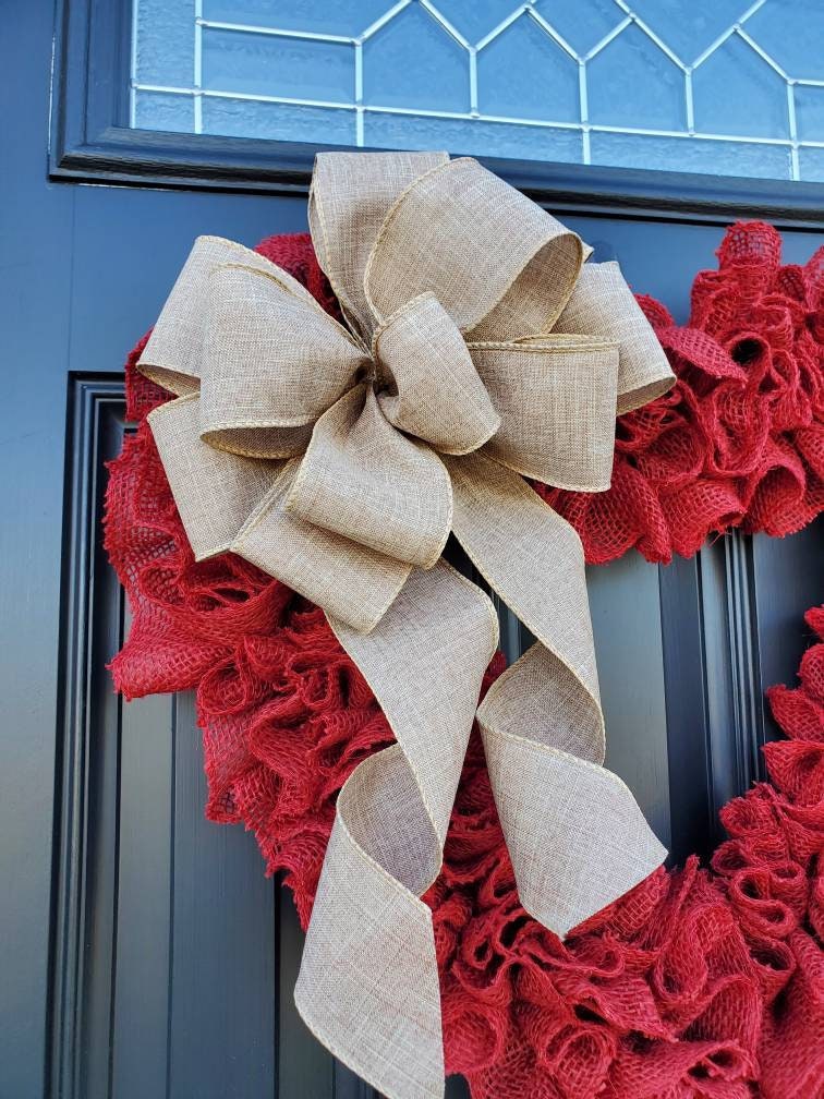
[[[132,0],[57,0],[51,179],[304,195],[319,148],[352,148],[131,129],[131,36]],[[824,224],[824,184],[480,159],[531,198],[570,214],[704,224],[762,218],[811,230]]]

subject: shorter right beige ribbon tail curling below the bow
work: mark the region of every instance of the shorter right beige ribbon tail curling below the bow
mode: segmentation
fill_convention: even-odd
[[[603,715],[578,535],[492,459],[445,460],[458,541],[538,639],[492,685],[478,720],[521,901],[564,936],[652,874],[666,851],[627,787],[601,766]]]

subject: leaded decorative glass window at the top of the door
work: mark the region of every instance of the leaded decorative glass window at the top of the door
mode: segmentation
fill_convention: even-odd
[[[822,0],[134,0],[131,124],[824,180]]]

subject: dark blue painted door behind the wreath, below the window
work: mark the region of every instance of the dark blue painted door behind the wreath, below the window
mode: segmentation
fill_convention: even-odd
[[[0,37],[0,1099],[366,1099],[297,1017],[300,933],[252,836],[202,815],[192,701],[123,706],[125,629],[100,546],[120,365],[191,242],[305,227],[303,199],[49,184],[52,5]],[[723,229],[567,219],[683,320]],[[804,259],[821,235],[784,233]],[[821,599],[816,526],[657,568],[590,569],[609,763],[673,857],[706,853],[758,776],[764,686],[791,681]],[[513,643],[520,631],[511,630]],[[450,1084],[450,1095],[465,1094]]]

